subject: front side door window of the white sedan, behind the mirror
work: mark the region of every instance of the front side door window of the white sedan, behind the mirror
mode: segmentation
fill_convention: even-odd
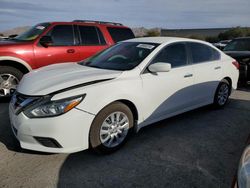
[[[166,62],[172,67],[179,67],[187,64],[186,47],[183,43],[172,44],[164,48],[153,60],[153,63]]]

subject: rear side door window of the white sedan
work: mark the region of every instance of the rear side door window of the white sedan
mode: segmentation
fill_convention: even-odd
[[[214,61],[220,59],[220,53],[201,43],[188,43],[193,63],[202,63],[207,61]]]

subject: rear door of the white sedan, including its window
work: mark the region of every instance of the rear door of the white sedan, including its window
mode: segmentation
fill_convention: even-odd
[[[188,42],[187,47],[194,69],[194,103],[212,102],[222,75],[220,53],[198,42]]]

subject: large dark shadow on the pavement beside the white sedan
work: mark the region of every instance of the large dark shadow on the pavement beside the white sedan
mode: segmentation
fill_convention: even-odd
[[[231,99],[154,123],[113,154],[70,154],[58,187],[229,187],[249,121],[250,101]]]

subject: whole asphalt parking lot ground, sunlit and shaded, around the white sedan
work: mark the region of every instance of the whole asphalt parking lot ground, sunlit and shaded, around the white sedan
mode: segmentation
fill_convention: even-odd
[[[249,133],[245,88],[224,109],[206,106],[143,128],[111,155],[46,154],[19,147],[2,101],[0,187],[228,188]]]

